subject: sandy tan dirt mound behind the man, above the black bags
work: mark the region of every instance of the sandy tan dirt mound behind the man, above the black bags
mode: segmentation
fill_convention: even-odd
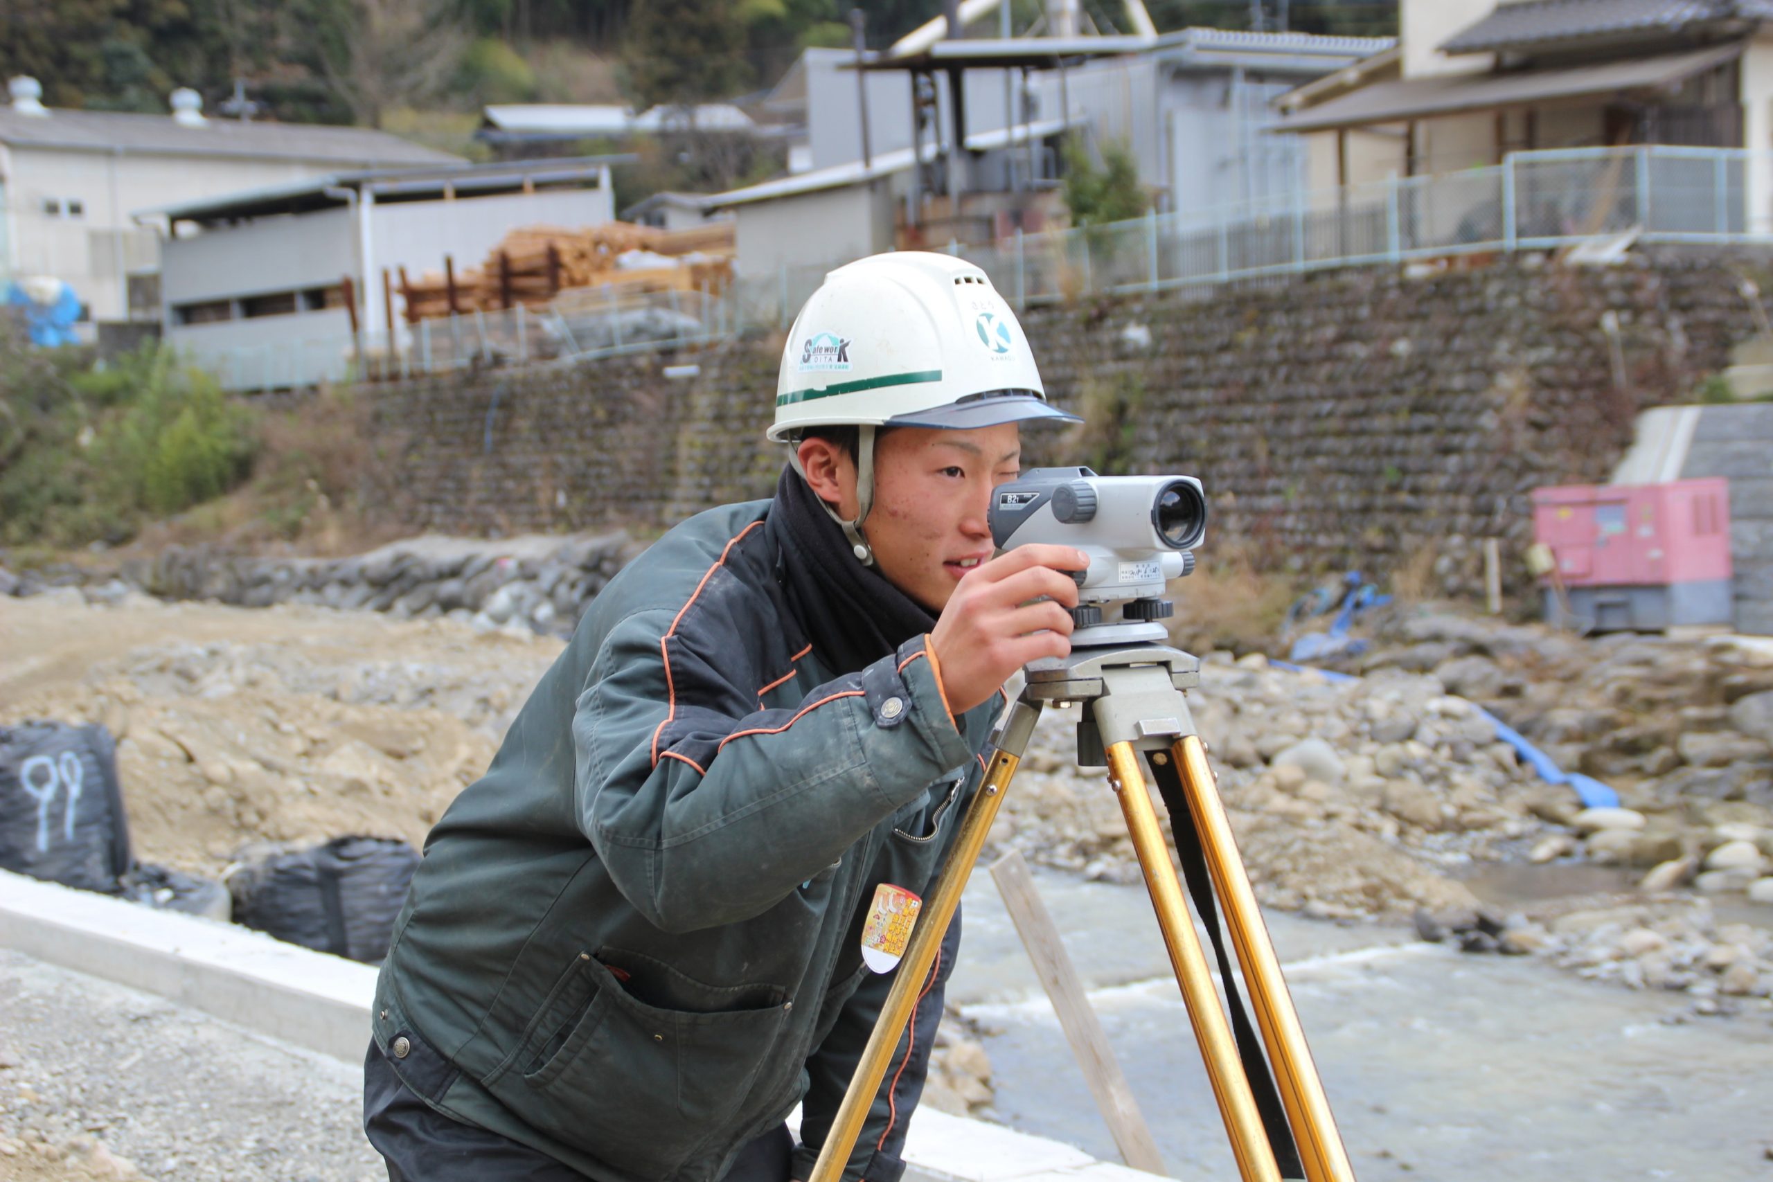
[[[110,727],[137,856],[211,877],[255,840],[420,844],[560,649],[450,620],[37,599],[0,608],[0,721]]]

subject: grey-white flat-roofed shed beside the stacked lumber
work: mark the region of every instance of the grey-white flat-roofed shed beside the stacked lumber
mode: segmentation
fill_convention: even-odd
[[[390,324],[401,342],[404,308],[390,291],[402,268],[418,278],[445,257],[457,271],[480,266],[518,227],[610,222],[613,197],[601,159],[532,159],[333,174],[140,216],[172,229],[167,344],[229,386],[307,386],[346,377],[365,338],[387,342]]]

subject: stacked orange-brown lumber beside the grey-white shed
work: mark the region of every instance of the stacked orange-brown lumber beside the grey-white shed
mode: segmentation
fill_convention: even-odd
[[[672,266],[624,268],[621,257],[649,252],[674,259]],[[406,319],[422,321],[450,312],[495,312],[523,305],[543,308],[562,292],[578,291],[574,303],[592,296],[582,289],[612,285],[622,292],[725,291],[732,282],[732,223],[688,230],[606,222],[580,230],[527,225],[505,234],[479,268],[427,271],[411,280],[401,273]]]

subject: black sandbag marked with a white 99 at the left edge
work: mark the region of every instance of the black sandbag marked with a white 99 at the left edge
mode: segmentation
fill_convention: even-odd
[[[0,868],[115,895],[129,868],[117,744],[103,727],[0,727]]]

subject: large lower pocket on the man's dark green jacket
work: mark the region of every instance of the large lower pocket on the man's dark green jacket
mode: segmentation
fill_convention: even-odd
[[[532,1023],[519,1077],[493,1085],[495,1095],[621,1171],[667,1178],[706,1139],[730,1134],[782,1037],[782,991],[704,985],[613,948],[574,969]]]

